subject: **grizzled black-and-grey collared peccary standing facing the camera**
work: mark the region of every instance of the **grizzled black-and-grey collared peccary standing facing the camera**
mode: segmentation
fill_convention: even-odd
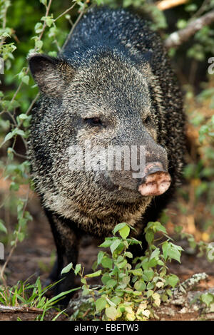
[[[66,264],[76,264],[84,233],[104,239],[116,224],[127,222],[145,249],[143,228],[179,185],[185,117],[162,44],[135,14],[101,8],[83,16],[57,58],[29,57],[41,97],[32,112],[28,152],[56,242],[53,281]],[[99,147],[137,148],[142,175],[133,177],[132,165],[124,168],[124,153],[121,169],[115,161],[111,169],[87,169],[86,141],[98,157]],[[71,164],[74,147],[79,160],[85,158],[79,169]],[[146,148],[142,167],[141,147]],[[72,271],[58,290],[71,287]]]

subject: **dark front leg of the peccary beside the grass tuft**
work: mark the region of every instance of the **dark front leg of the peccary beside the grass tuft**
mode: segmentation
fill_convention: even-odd
[[[61,270],[71,262],[73,263],[73,267],[76,266],[79,247],[78,231],[74,231],[71,226],[68,225],[67,220],[63,220],[62,217],[59,217],[49,211],[46,211],[46,215],[51,224],[51,230],[54,235],[57,251],[56,262],[51,274],[49,275],[49,279],[51,282],[57,282],[62,279],[61,282],[56,284],[55,291],[56,294],[58,294],[75,287],[75,274],[73,273],[73,270],[71,269],[70,272],[63,275],[61,275]],[[71,221],[69,222],[72,223]],[[71,295],[72,294],[66,295],[66,297],[60,301],[60,304],[68,304]]]

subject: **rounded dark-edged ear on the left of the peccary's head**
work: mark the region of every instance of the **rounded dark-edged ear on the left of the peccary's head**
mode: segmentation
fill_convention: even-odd
[[[73,68],[66,61],[40,53],[30,56],[28,61],[40,90],[47,96],[61,97],[73,77]]]

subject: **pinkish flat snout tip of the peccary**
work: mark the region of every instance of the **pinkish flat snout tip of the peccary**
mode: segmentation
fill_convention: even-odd
[[[170,174],[163,169],[161,163],[148,163],[146,165],[146,177],[138,187],[138,191],[144,196],[162,195],[168,190],[170,183]]]

